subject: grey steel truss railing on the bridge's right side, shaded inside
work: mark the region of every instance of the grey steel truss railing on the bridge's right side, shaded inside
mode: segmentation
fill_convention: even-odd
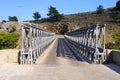
[[[92,62],[104,63],[106,60],[105,26],[97,24],[83,27],[66,33],[64,37]]]

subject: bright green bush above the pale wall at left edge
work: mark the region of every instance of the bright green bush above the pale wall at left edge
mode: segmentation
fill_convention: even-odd
[[[0,32],[0,49],[13,49],[17,46],[18,33]]]

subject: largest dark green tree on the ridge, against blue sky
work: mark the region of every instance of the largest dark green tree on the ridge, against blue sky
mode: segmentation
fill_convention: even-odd
[[[47,16],[49,16],[49,20],[51,22],[60,21],[63,18],[63,15],[61,15],[58,10],[52,6],[49,7],[49,13]]]

